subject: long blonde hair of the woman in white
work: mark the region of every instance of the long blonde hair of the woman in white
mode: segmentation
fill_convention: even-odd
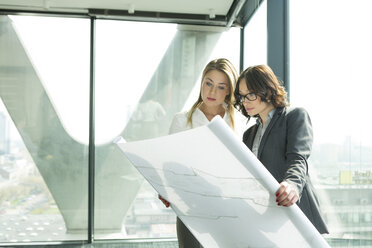
[[[234,130],[234,127],[235,127],[235,123],[234,123],[234,103],[235,103],[234,89],[235,89],[235,82],[236,82],[237,77],[238,77],[237,72],[235,70],[234,65],[228,59],[225,59],[225,58],[214,59],[214,60],[210,61],[205,66],[205,68],[203,70],[200,88],[203,85],[205,75],[211,70],[218,70],[220,72],[223,72],[223,73],[225,73],[225,75],[229,79],[229,94],[225,98],[225,103],[226,103],[226,112],[227,112],[227,115],[230,117],[231,127]],[[203,99],[202,99],[201,90],[200,90],[198,100],[194,103],[194,105],[191,107],[190,111],[187,114],[187,125],[190,125],[190,127],[192,127],[192,115],[195,112],[196,108],[198,108],[202,103],[203,103]]]

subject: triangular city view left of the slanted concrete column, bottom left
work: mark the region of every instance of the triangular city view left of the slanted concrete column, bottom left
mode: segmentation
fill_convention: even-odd
[[[0,102],[0,244],[65,239],[56,202]]]

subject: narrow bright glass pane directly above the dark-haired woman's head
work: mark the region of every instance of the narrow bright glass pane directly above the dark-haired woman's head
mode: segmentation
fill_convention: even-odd
[[[267,2],[263,1],[257,8],[244,27],[244,69],[267,64]]]

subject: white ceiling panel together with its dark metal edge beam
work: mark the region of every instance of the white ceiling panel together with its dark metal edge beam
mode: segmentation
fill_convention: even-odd
[[[0,0],[0,12],[83,14],[106,19],[242,26],[245,5],[262,0]],[[245,8],[246,9],[246,8]],[[253,13],[253,12],[251,12]],[[249,13],[249,15],[251,14]],[[245,15],[245,13],[243,13]]]

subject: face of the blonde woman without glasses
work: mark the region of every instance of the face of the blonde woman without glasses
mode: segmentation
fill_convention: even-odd
[[[230,92],[229,79],[225,73],[210,70],[202,82],[201,97],[207,107],[221,105]]]

